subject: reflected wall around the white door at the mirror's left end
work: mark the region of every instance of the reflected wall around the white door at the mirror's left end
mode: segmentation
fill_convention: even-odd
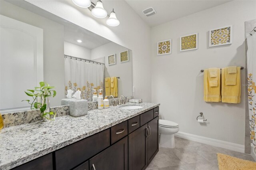
[[[51,107],[60,106],[65,95],[64,26],[3,0],[0,3],[0,14],[44,30],[44,81],[56,87],[57,95],[51,99]]]

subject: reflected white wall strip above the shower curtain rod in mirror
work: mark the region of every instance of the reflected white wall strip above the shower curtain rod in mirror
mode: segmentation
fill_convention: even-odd
[[[70,42],[64,42],[64,54],[84,59],[91,59],[91,49]]]

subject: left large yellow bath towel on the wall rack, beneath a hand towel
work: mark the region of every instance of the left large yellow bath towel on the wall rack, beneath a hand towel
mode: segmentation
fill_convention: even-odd
[[[209,85],[208,69],[204,70],[204,101],[219,102],[220,100],[220,69],[217,69],[217,86],[211,87]]]

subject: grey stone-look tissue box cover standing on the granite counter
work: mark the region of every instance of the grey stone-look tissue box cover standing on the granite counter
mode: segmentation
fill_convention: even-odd
[[[88,101],[87,100],[70,100],[69,101],[69,112],[71,116],[79,117],[87,115],[88,112]]]

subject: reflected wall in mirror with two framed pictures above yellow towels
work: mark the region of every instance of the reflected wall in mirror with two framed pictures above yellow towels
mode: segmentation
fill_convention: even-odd
[[[128,49],[110,42],[92,49],[92,60],[104,57],[105,77],[120,77],[118,79],[118,97],[132,95],[132,51],[129,50],[129,61],[120,63],[120,52]],[[108,55],[116,54],[116,64],[108,65]]]

